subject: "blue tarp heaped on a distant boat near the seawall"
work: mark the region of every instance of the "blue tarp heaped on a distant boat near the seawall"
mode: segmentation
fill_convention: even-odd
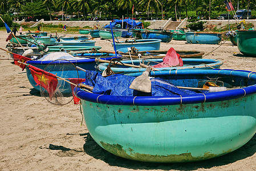
[[[112,21],[112,28],[121,28],[122,27],[122,20],[121,19],[114,19]],[[142,28],[142,22],[137,22],[132,19],[124,19],[123,23],[124,28]],[[110,25],[106,25],[104,28],[110,28]]]

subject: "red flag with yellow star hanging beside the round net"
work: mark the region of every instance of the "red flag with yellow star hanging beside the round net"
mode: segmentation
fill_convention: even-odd
[[[29,69],[35,82],[39,86],[46,89],[51,99],[52,96],[54,95],[54,91],[57,88],[57,84],[58,84],[58,79],[56,78],[56,75],[31,65],[29,65]]]

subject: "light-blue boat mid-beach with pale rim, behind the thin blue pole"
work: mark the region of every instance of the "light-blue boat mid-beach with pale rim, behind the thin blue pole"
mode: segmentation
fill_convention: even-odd
[[[160,39],[139,39],[128,40],[115,43],[116,50],[120,52],[128,52],[128,47],[135,47],[139,51],[155,51],[160,50]],[[112,43],[113,46],[113,43]]]

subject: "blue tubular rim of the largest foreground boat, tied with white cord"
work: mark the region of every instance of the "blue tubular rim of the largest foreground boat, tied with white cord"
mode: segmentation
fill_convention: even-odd
[[[138,76],[141,75],[137,73]],[[242,78],[248,78],[256,80],[256,72],[244,71],[244,70],[170,70],[170,71],[151,71],[151,76],[157,75],[207,75],[207,74],[219,74],[228,76],[239,76]],[[75,95],[86,101],[93,103],[109,104],[109,105],[143,105],[143,106],[157,106],[157,105],[176,105],[176,104],[194,104],[194,103],[206,103],[214,101],[224,101],[237,99],[239,97],[249,96],[256,93],[256,84],[248,87],[231,89],[225,92],[210,92],[210,93],[198,93],[185,96],[112,96],[97,93],[89,93],[83,91],[80,88],[74,89]]]

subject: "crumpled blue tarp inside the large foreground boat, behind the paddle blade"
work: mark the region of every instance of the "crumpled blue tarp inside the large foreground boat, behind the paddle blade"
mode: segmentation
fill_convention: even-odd
[[[172,83],[158,78],[151,79],[151,93],[139,92],[129,88],[134,79],[133,76],[120,74],[104,78],[99,72],[88,70],[86,71],[86,82],[84,84],[93,86],[92,92],[94,93],[113,96],[180,96],[197,93],[188,89],[179,89]]]

